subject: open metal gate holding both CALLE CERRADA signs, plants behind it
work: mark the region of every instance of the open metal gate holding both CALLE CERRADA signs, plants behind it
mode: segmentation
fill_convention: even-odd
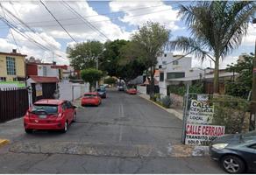
[[[249,102],[229,95],[185,95],[183,144],[209,144],[223,134],[249,130]]]

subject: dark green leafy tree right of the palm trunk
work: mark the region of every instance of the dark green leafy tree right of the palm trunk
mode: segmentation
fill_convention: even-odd
[[[253,54],[245,56],[244,60],[237,61],[236,64],[228,65],[227,70],[231,73],[239,73],[234,81],[225,83],[225,93],[227,95],[247,98],[252,90],[252,69]]]

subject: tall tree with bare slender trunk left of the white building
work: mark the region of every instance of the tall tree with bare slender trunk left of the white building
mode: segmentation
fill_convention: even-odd
[[[170,36],[163,25],[159,23],[147,22],[139,31],[132,35],[132,42],[126,45],[124,58],[129,60],[138,59],[146,69],[150,69],[150,97],[153,99],[154,81],[153,75],[157,64],[157,57],[163,53]]]

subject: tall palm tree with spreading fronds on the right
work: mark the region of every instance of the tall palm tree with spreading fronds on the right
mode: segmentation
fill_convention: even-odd
[[[179,17],[191,37],[178,37],[171,49],[193,52],[196,58],[214,61],[214,93],[219,93],[219,61],[238,48],[247,33],[256,5],[252,1],[207,1],[181,5]]]

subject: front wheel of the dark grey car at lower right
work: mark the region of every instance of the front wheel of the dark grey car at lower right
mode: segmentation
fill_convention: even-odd
[[[221,159],[221,165],[225,172],[229,172],[231,174],[245,172],[244,161],[236,156],[225,156]]]

